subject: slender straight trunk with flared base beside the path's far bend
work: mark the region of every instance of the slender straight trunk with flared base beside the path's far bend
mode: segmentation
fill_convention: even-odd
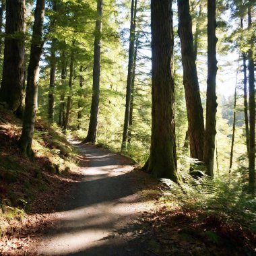
[[[98,0],[97,13],[98,18],[95,26],[95,39],[94,39],[94,70],[92,82],[92,105],[90,111],[90,123],[88,135],[84,142],[96,142],[96,135],[98,129],[98,111],[100,105],[100,41],[102,32],[102,4],[103,0]]]

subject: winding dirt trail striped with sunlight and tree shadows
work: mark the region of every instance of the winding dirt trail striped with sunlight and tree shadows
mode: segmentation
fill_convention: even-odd
[[[152,201],[136,193],[143,187],[138,187],[140,181],[136,180],[140,178],[132,171],[131,160],[69,141],[80,155],[86,156],[82,181],[77,183],[73,198],[55,213],[54,227],[40,238],[36,254],[151,255],[141,245],[130,242],[133,237],[127,224],[152,207]]]

